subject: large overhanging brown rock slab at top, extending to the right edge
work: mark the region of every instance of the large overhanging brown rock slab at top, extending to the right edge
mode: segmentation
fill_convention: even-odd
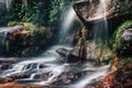
[[[120,15],[122,10],[125,12],[125,9],[131,8],[131,2],[129,0],[81,0],[74,4],[74,10],[82,22],[91,23]]]

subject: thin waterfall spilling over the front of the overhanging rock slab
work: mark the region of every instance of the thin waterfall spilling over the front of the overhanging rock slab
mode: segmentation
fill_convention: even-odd
[[[107,42],[108,41],[108,21],[107,21],[107,4],[106,0],[100,0],[98,8],[95,13],[95,19],[103,19],[100,23],[94,24],[94,40],[96,42]]]

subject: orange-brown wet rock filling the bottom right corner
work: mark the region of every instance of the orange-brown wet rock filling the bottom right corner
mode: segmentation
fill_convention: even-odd
[[[122,62],[119,62],[120,65]],[[121,67],[110,73],[103,79],[87,88],[131,88],[132,87],[132,64],[130,61],[123,61]]]

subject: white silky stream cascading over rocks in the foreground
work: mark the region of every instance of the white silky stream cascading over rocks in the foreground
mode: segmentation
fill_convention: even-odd
[[[61,63],[58,61],[59,55],[55,52],[55,50],[59,47],[64,47],[64,46],[55,45],[50,50],[47,50],[42,55],[40,55],[38,57],[20,62],[23,64],[31,63],[31,62],[32,63],[44,62],[44,64],[50,64],[50,66],[38,70],[37,73],[32,74],[30,78],[22,78],[15,81],[18,84],[32,85],[32,86],[33,85],[51,86],[51,84],[57,82],[57,85],[54,85],[54,86],[56,87],[59,86],[61,88],[85,88],[87,85],[99,81],[101,77],[105,77],[106,75],[109,74],[110,65],[95,67],[89,64],[72,65],[72,64]],[[68,47],[68,46],[65,46],[65,47],[72,50],[72,47]],[[37,74],[41,76],[47,75],[48,77],[46,80],[44,79],[40,80],[37,78],[34,78],[34,76]],[[59,84],[59,80],[64,81],[67,79],[70,79],[68,84],[67,82],[63,82],[63,85]]]

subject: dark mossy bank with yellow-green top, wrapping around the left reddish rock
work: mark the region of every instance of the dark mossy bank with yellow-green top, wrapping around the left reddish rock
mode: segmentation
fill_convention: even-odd
[[[48,46],[53,37],[53,31],[50,28],[36,26],[30,22],[9,22],[8,25],[13,26],[21,24],[25,30],[30,31],[29,36],[24,36],[20,44],[8,41],[4,43],[6,54],[8,56],[29,56],[37,54],[40,51]],[[33,52],[31,51],[33,50]]]

